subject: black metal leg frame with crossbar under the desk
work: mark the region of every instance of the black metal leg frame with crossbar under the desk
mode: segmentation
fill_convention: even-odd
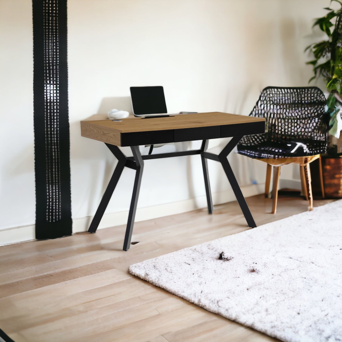
[[[180,156],[192,156],[192,155],[201,155],[202,160],[202,168],[203,168],[203,176],[204,183],[206,187],[206,196],[208,203],[208,212],[211,214],[213,212],[213,203],[211,197],[211,189],[210,189],[210,181],[209,181],[209,173],[208,173],[208,159],[215,160],[221,163],[223,170],[228,178],[229,183],[232,186],[235,197],[240,205],[242,213],[245,216],[247,224],[249,227],[254,228],[256,224],[253,220],[252,214],[247,206],[246,200],[241,193],[241,189],[236,181],[233,170],[229,165],[227,156],[230,152],[232,152],[233,148],[238,144],[238,142],[242,139],[242,136],[232,137],[231,141],[223,148],[220,154],[215,155],[213,153],[206,152],[208,148],[209,140],[203,140],[202,146],[198,150],[189,150],[189,151],[180,151],[180,152],[171,152],[171,153],[160,153],[160,154],[151,154],[142,156],[139,150],[139,146],[131,146],[131,150],[133,153],[133,157],[126,157],[119,147],[115,145],[106,144],[110,149],[111,153],[118,159],[117,166],[114,170],[113,175],[108,183],[108,186],[103,194],[100,205],[98,206],[94,218],[90,224],[88,229],[88,233],[95,233],[96,229],[102,219],[102,216],[107,208],[108,202],[110,200],[111,195],[114,192],[114,189],[119,181],[121,173],[124,167],[128,167],[130,169],[136,170],[135,180],[133,186],[133,194],[131,200],[131,206],[128,214],[127,228],[126,234],[123,243],[123,250],[127,251],[130,248],[132,232],[133,232],[133,224],[136,212],[136,206],[139,198],[139,190],[140,183],[144,169],[144,160],[148,159],[157,159],[157,158],[169,158],[169,157],[180,157]]]

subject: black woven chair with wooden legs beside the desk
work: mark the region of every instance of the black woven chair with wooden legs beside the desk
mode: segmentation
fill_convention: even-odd
[[[329,116],[325,113],[326,102],[317,87],[267,87],[250,114],[266,119],[265,134],[243,137],[237,149],[239,154],[267,163],[266,196],[273,166],[272,213],[277,210],[280,167],[293,162],[300,165],[302,189],[312,210],[309,163],[327,152]],[[321,167],[320,181],[324,198]]]

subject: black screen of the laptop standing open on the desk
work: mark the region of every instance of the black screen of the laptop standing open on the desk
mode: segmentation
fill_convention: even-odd
[[[131,87],[130,90],[135,115],[167,113],[163,87]]]

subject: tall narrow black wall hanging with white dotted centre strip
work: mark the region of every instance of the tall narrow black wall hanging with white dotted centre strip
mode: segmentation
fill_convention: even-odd
[[[36,238],[72,233],[67,0],[32,0]]]

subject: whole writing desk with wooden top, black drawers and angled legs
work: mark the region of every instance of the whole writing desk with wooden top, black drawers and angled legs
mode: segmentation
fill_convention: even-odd
[[[94,218],[88,229],[95,233],[98,224],[106,210],[111,195],[124,167],[136,170],[131,206],[128,215],[126,235],[123,250],[130,248],[133,232],[136,205],[144,168],[144,160],[169,158],[177,156],[201,155],[204,182],[209,213],[213,212],[207,159],[221,163],[223,170],[231,184],[236,199],[245,216],[249,227],[256,227],[244,196],[229,165],[227,156],[244,135],[265,133],[265,119],[250,116],[234,115],[220,112],[175,115],[159,118],[126,118],[122,121],[93,120],[81,121],[81,135],[90,139],[104,142],[118,164],[108,183]],[[231,141],[218,155],[207,152],[209,139],[232,137]],[[202,146],[197,150],[172,153],[141,155],[139,145],[174,143],[182,141],[202,140]],[[118,146],[130,146],[133,157],[126,157]]]

